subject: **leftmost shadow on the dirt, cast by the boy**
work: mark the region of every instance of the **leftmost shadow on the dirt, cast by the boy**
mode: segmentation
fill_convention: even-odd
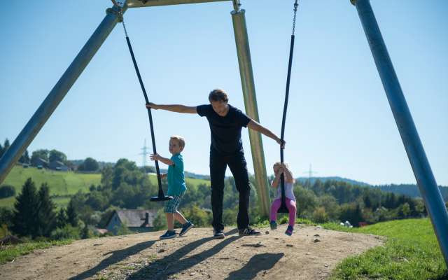
[[[114,263],[124,260],[125,258],[127,258],[127,256],[134,255],[136,253],[139,253],[140,251],[145,250],[146,248],[153,246],[153,244],[156,241],[158,241],[158,240],[144,241],[139,244],[135,244],[134,246],[130,246],[129,248],[124,248],[121,250],[104,253],[104,255],[109,255],[109,254],[111,254],[111,255],[108,258],[99,262],[99,264],[97,266],[92,267],[91,269],[86,270],[85,272],[78,274],[77,276],[73,276],[69,279],[80,280],[80,279],[87,279],[89,277],[92,277],[92,276],[94,276],[94,274],[97,274],[97,272],[100,272],[103,269],[106,269],[110,265],[113,265]]]

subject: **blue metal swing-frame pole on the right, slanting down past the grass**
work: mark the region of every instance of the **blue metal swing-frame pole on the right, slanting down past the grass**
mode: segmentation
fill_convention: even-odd
[[[395,118],[395,123],[397,123],[407,157],[414,171],[417,186],[419,186],[421,197],[423,197],[425,202],[426,209],[433,223],[435,235],[448,267],[448,213],[442,195],[439,188],[437,188],[433,171],[423,150],[414,120],[412,120],[405,96],[398,82],[398,77],[393,69],[391,57],[388,55],[386,44],[381,36],[381,31],[379,31],[372,6],[370,6],[370,1],[351,0],[351,3],[358,10],[365,36],[370,45],[375,64],[377,64],[379,76]]]

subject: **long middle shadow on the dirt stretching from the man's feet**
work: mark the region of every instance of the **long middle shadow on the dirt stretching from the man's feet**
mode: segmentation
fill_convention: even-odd
[[[233,234],[232,232],[235,232],[235,229],[226,232],[225,235],[232,235]],[[131,274],[127,279],[167,280],[169,279],[170,276],[177,274],[183,270],[186,270],[190,267],[193,267],[204,260],[207,260],[207,258],[210,258],[212,255],[215,255],[223,248],[225,248],[225,246],[228,246],[230,243],[236,241],[239,238],[241,237],[239,236],[228,237],[226,239],[223,239],[223,241],[219,242],[214,247],[209,248],[207,251],[197,253],[196,255],[191,255],[190,257],[181,260],[183,256],[187,255],[195,248],[201,246],[204,243],[207,243],[208,241],[215,240],[214,237],[198,239],[186,246],[183,246],[182,248],[179,248],[171,255],[167,255],[165,256],[165,258],[162,258],[161,260],[156,260],[155,262],[152,262],[151,265],[148,265],[148,267],[139,269],[134,274]]]

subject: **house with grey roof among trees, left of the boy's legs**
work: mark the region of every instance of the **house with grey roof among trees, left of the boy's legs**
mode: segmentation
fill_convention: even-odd
[[[113,211],[106,225],[106,230],[116,235],[118,229],[125,225],[133,232],[151,232],[156,215],[157,210],[116,210]]]

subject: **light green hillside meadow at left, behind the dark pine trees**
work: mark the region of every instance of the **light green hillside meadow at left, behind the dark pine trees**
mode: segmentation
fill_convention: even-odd
[[[40,188],[42,183],[48,183],[50,195],[62,196],[54,197],[53,200],[58,206],[64,207],[68,204],[71,195],[78,193],[79,190],[87,193],[92,184],[96,186],[101,182],[101,174],[59,172],[15,165],[2,185],[14,186],[16,195],[18,195],[28,178],[34,181],[36,188]],[[3,198],[0,200],[0,207],[11,208],[14,202],[15,197]]]

